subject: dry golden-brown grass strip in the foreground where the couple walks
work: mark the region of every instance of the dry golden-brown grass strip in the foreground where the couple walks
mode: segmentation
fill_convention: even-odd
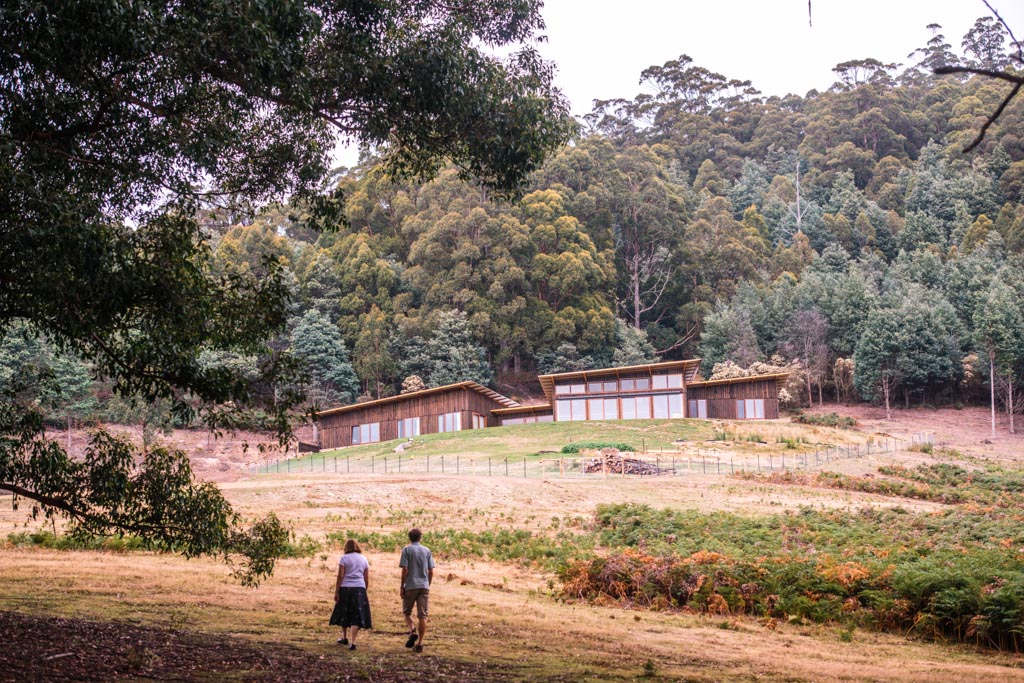
[[[402,647],[393,554],[368,555],[376,629],[358,656]],[[0,608],[119,620],[259,642],[290,643],[346,660],[327,627],[334,556],[282,562],[259,590],[232,584],[212,560],[176,556],[5,550]],[[1024,680],[1018,657],[827,627],[631,612],[545,595],[546,578],[487,562],[437,569],[427,653],[519,680],[633,680],[653,663],[664,680]]]

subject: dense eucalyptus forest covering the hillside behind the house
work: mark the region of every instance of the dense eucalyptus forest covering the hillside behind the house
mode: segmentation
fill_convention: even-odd
[[[934,69],[1009,69],[1009,36],[980,18],[954,50],[930,28],[907,65],[847,61],[804,96],[763,96],[686,55],[650,67],[642,94],[595,102],[513,202],[454,167],[394,181],[367,154],[333,176],[346,198],[333,229],[301,203],[210,208],[208,267],[284,269],[273,348],[304,366],[294,388],[319,408],[414,375],[521,397],[537,372],[700,356],[711,376],[779,356],[799,364],[797,404],[972,402],[994,385],[1019,411],[1024,98],[965,154],[1008,86]],[[265,359],[203,361],[255,376]],[[170,420],[15,326],[0,385],[29,368],[49,379],[37,400],[54,421]]]

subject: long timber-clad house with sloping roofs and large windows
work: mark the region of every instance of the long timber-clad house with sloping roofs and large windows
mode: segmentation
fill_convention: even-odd
[[[322,449],[531,422],[778,417],[786,375],[699,379],[700,359],[541,375],[546,403],[520,405],[476,382],[345,405],[319,414]]]

